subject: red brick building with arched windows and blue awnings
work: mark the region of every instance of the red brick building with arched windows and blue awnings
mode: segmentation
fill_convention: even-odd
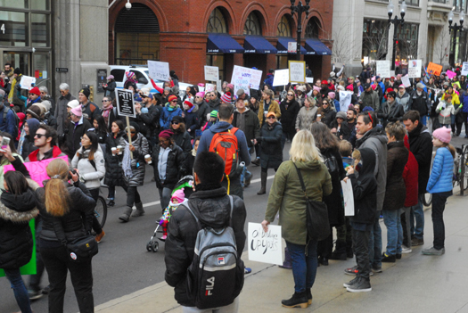
[[[296,58],[287,54],[297,32],[288,0],[131,0],[130,10],[126,3],[120,0],[109,10],[109,64],[160,60],[181,81],[196,83],[204,80],[204,65],[218,66],[220,79],[230,80],[234,64],[255,66],[265,76]],[[327,78],[333,0],[309,5],[308,18],[302,15],[301,60],[315,78]]]

